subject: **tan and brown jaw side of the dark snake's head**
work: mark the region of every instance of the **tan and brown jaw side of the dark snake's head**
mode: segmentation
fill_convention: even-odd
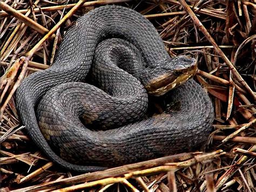
[[[158,78],[154,78],[148,83],[145,88],[147,93],[154,96],[161,96],[165,93],[173,90],[182,84],[184,84],[188,79],[194,77],[197,73],[197,65],[186,68],[185,70],[174,71],[170,73],[165,73]]]

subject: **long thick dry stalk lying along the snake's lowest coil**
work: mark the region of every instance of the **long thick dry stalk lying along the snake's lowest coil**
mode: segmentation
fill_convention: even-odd
[[[99,181],[99,180],[106,179],[106,178],[110,179],[112,177],[116,177],[115,179],[117,179],[118,176],[122,176],[122,175],[126,175],[126,174],[128,174],[126,176],[133,177],[133,176],[142,176],[142,175],[146,175],[146,174],[153,174],[153,172],[158,173],[161,170],[167,172],[170,169],[173,170],[174,168],[177,168],[177,166],[178,167],[187,167],[187,166],[190,166],[191,164],[196,163],[198,161],[211,159],[213,157],[223,155],[223,154],[225,154],[225,152],[223,152],[223,150],[217,150],[213,153],[201,154],[201,155],[198,155],[198,153],[183,153],[183,154],[178,154],[178,155],[166,156],[166,157],[161,157],[161,158],[154,159],[154,160],[149,160],[149,161],[144,161],[144,162],[139,162],[139,163],[134,163],[134,164],[127,164],[125,166],[111,168],[111,169],[107,169],[107,170],[104,170],[101,172],[86,173],[86,174],[82,174],[82,175],[78,175],[78,176],[74,176],[74,177],[70,177],[70,178],[66,178],[66,179],[62,179],[62,180],[58,180],[58,181],[42,183],[42,184],[38,184],[36,186],[30,186],[30,187],[18,189],[15,191],[27,191],[27,190],[35,191],[35,190],[43,190],[43,189],[53,190],[53,189],[58,189],[60,187],[63,187],[65,185],[69,185],[69,184],[78,184],[78,183],[84,183],[84,182],[90,182],[90,181],[96,181],[96,180]],[[181,161],[181,162],[179,162],[179,161]],[[174,162],[174,163],[172,163],[172,164],[169,163],[169,166],[161,166],[168,162]],[[142,169],[144,169],[144,170],[140,171]],[[126,177],[122,176],[122,179],[124,179],[124,178],[126,178]],[[109,180],[107,180],[107,181],[109,181]],[[116,180],[113,180],[113,181],[116,181]],[[92,184],[92,183],[90,183],[90,184]],[[94,183],[94,184],[97,184],[97,183]]]

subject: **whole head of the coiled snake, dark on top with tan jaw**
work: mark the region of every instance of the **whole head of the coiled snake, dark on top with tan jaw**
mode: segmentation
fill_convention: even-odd
[[[147,93],[160,96],[191,79],[197,73],[197,61],[190,57],[178,56],[147,67],[145,73],[147,81],[142,82]]]

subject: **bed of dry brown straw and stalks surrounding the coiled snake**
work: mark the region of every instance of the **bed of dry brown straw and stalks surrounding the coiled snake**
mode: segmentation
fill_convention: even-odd
[[[77,176],[49,162],[19,124],[13,94],[24,77],[49,67],[72,22],[106,2],[5,1],[0,2],[9,13],[0,11],[2,190],[255,191],[256,2],[108,2],[150,19],[171,56],[198,59],[195,79],[215,109],[208,153],[179,154]]]

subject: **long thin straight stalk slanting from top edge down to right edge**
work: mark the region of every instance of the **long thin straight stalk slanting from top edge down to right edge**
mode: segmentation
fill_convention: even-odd
[[[244,79],[240,76],[237,69],[233,66],[231,61],[227,58],[225,53],[220,49],[218,44],[215,42],[215,40],[212,38],[210,33],[206,30],[204,25],[200,22],[200,20],[197,18],[197,16],[194,14],[194,12],[191,10],[190,6],[187,5],[185,0],[179,0],[180,4],[183,6],[183,8],[187,11],[188,15],[190,15],[193,22],[198,26],[199,30],[204,33],[205,37],[210,41],[210,43],[214,46],[214,49],[221,58],[225,61],[226,65],[230,68],[230,71],[232,72],[233,76],[239,81],[242,86],[246,88],[246,90],[252,95],[253,99],[256,100],[256,94],[252,91],[251,87],[248,86],[248,84],[245,82]]]

